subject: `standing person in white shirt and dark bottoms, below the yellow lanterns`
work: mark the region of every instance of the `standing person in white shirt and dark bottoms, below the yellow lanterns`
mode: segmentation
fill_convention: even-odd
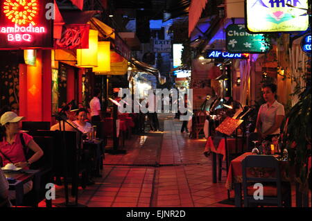
[[[90,100],[90,115],[92,125],[96,125],[96,137],[101,137],[101,103],[99,97],[101,96],[100,89],[94,89],[94,97]]]

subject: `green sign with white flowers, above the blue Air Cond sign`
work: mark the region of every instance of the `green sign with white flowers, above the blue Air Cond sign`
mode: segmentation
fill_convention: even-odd
[[[270,46],[265,42],[265,35],[250,34],[245,24],[230,24],[226,29],[227,51],[230,53],[265,53]]]

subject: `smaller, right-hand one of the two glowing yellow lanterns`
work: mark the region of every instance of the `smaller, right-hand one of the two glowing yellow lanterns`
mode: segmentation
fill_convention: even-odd
[[[98,67],[94,67],[96,74],[110,71],[110,42],[98,42]]]

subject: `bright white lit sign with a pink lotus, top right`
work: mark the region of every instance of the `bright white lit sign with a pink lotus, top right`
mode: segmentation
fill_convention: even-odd
[[[309,15],[300,8],[307,9],[308,0],[245,0],[247,28],[252,33],[304,31]]]

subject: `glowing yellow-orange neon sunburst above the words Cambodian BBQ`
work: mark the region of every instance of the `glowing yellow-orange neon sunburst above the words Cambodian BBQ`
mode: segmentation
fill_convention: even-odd
[[[3,12],[10,21],[18,25],[36,25],[34,18],[38,14],[37,0],[6,0]]]

